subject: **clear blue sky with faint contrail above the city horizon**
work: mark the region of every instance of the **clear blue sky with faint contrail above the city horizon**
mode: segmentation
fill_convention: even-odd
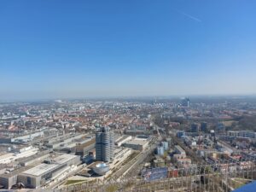
[[[0,1],[0,100],[255,93],[255,0]]]

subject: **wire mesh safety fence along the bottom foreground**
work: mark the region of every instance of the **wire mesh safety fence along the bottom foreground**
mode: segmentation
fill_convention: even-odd
[[[90,183],[74,184],[56,192],[114,192],[114,191],[214,191],[229,192],[256,178],[255,157],[243,160],[222,160],[216,164],[196,165],[187,169],[178,168],[177,174],[165,179],[147,182],[143,177],[112,178]]]

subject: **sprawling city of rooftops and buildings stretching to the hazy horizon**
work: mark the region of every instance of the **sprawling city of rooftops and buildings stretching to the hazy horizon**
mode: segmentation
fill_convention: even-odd
[[[256,177],[256,99],[0,103],[0,187],[231,191]]]

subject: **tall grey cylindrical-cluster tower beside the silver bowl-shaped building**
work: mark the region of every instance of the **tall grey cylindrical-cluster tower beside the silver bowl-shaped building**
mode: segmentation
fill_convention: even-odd
[[[109,127],[102,127],[96,132],[96,160],[109,162],[113,160],[113,131]]]

